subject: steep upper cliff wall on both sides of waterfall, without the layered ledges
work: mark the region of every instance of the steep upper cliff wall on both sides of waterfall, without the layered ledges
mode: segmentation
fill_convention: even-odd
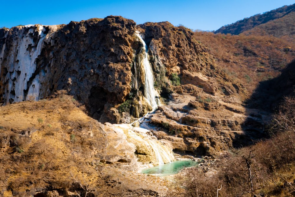
[[[139,118],[149,106],[142,99],[143,80],[134,77],[139,72],[135,60],[141,47],[135,31],[148,45],[155,86],[162,97],[172,92],[168,78],[173,73],[182,76],[185,70],[230,81],[185,27],[169,22],[136,25],[110,16],[68,25],[1,29],[0,102],[40,100],[66,89],[101,122]],[[228,88],[235,92],[232,85]],[[126,100],[130,101],[122,118],[117,107]]]

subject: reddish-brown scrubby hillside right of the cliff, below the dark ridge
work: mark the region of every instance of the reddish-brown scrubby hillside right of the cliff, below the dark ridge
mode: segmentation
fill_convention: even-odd
[[[207,47],[228,76],[241,80],[250,94],[259,82],[279,76],[295,58],[294,44],[269,36],[194,32],[194,38]]]

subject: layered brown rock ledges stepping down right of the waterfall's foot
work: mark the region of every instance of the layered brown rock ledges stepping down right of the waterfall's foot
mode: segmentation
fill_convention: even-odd
[[[155,126],[153,134],[169,142],[174,152],[214,155],[262,136],[261,128],[268,117],[258,118],[261,111],[250,112],[235,95],[191,91],[201,88],[188,86],[181,86],[181,91],[175,88],[179,93],[172,94],[171,101],[159,106],[148,120]]]

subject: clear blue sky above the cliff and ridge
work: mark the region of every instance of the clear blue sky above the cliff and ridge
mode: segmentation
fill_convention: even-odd
[[[121,15],[137,24],[169,21],[191,29],[217,30],[245,17],[294,3],[295,0],[6,0],[1,1],[0,27],[68,24]]]

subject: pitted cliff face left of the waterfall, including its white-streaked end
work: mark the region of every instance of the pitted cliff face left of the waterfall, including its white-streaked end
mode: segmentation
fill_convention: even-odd
[[[132,20],[106,17],[54,32],[40,25],[1,30],[1,102],[66,89],[100,118],[106,103],[122,102],[130,92],[134,27]]]

